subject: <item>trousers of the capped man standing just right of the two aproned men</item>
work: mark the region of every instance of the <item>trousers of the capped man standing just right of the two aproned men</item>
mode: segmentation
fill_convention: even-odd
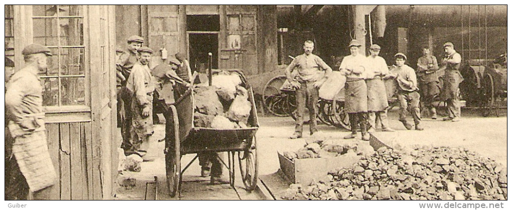
[[[407,112],[411,112],[414,124],[418,125],[421,121],[419,112],[419,94],[418,91],[403,91],[397,93],[398,101],[400,102],[400,118],[399,121],[407,123]]]

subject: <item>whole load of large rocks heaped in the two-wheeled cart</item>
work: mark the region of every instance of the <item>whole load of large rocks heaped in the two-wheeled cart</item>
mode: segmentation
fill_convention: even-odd
[[[252,107],[248,97],[238,73],[223,72],[212,77],[212,86],[194,88],[194,126],[246,128]]]

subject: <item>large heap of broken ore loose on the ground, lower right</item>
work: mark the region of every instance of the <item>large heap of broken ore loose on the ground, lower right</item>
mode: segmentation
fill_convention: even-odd
[[[462,148],[380,148],[352,168],[306,187],[291,184],[288,200],[506,200],[507,170]]]

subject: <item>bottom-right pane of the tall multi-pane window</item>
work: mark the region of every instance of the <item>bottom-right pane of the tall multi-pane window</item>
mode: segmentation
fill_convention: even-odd
[[[61,78],[61,103],[66,105],[86,105],[85,78]]]

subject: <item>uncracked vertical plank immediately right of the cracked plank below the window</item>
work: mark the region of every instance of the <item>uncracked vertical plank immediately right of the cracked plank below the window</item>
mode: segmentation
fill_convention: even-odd
[[[80,124],[69,124],[71,159],[71,199],[82,199],[82,163],[80,152]]]

